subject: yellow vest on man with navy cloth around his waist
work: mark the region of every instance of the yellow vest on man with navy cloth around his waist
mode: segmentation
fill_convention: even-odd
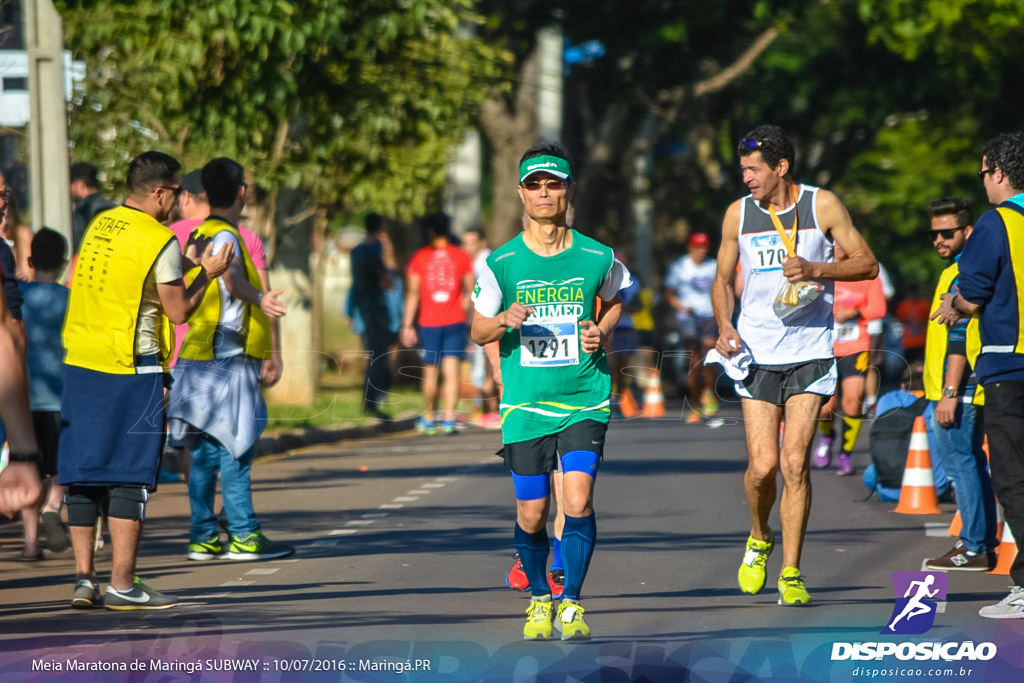
[[[160,366],[136,366],[135,338],[146,280],[174,240],[170,228],[138,209],[121,206],[97,215],[82,240],[61,334],[69,366],[112,375],[166,372],[174,326],[157,317]]]

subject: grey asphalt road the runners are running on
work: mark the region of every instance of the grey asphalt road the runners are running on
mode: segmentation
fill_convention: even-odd
[[[71,553],[19,562],[19,526],[0,527],[0,679],[859,680],[854,668],[864,663],[831,661],[834,643],[887,639],[879,633],[896,597],[890,573],[920,570],[951,547],[953,506],[893,514],[892,504],[863,500],[859,476],[815,471],[801,566],[813,604],[776,604],[781,552],[769,559],[765,591],[745,596],[735,579],[750,529],[742,425],[728,410],[717,429],[672,415],[609,431],[584,590],[589,644],[520,640],[528,598],[504,584],[512,486],[494,456],[498,433],[470,429],[259,461],[263,530],[297,548],[282,560],[187,561],[185,485],[162,485],[138,573],[181,598],[172,609],[73,610]],[[866,442],[865,429],[858,468]],[[109,562],[110,546],[98,555],[103,584]],[[949,573],[947,599],[918,640],[991,641],[999,654],[948,680],[1024,680],[1024,624],[977,614],[1010,583]],[[75,663],[135,670],[69,672]],[[230,671],[242,668],[253,670]]]

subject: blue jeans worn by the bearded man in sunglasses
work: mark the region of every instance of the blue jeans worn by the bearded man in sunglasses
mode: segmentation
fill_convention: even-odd
[[[980,412],[971,403],[958,402],[952,426],[943,427],[935,420],[935,401],[928,404],[925,417],[935,434],[938,460],[956,487],[956,507],[964,523],[961,540],[972,553],[994,550],[999,543],[995,496],[982,450],[985,432]]]

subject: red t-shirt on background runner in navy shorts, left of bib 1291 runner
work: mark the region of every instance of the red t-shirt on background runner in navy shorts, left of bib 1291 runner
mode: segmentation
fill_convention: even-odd
[[[413,255],[407,275],[420,276],[421,328],[439,328],[466,322],[462,306],[463,280],[473,274],[469,254],[453,245],[441,249],[424,247]]]

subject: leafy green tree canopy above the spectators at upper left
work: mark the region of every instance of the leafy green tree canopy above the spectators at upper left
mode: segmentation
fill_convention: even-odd
[[[63,20],[88,68],[77,157],[120,179],[144,148],[186,168],[228,156],[349,216],[435,206],[506,61],[462,30],[479,20],[469,0],[95,0]]]

